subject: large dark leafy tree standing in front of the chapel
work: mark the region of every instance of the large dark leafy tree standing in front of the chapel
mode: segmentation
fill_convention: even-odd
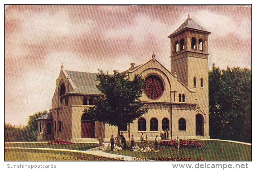
[[[95,100],[94,108],[85,109],[84,112],[95,121],[117,126],[119,135],[121,127],[127,127],[128,123],[133,123],[148,111],[140,102],[144,80],[138,75],[129,80],[129,77],[119,72],[109,75],[99,71],[97,80],[100,83],[97,88],[103,95]]]

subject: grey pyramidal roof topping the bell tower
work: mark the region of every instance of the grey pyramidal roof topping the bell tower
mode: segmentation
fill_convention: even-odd
[[[201,31],[201,32],[210,34],[210,32],[208,32],[206,29],[204,29],[199,24],[197,24],[193,19],[191,19],[188,14],[188,19],[186,19],[186,21],[183,24],[181,24],[181,26],[178,29],[176,29],[173,33],[171,33],[168,36],[168,38],[170,38],[171,36],[173,36],[177,33],[182,32],[186,29],[193,29],[193,30],[197,30],[197,31]]]

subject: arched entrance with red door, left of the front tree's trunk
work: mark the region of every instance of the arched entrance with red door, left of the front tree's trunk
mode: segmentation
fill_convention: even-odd
[[[82,138],[94,138],[94,121],[83,113],[81,118]]]

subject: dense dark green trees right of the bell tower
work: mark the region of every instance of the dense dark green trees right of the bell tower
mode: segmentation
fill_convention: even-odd
[[[209,123],[212,138],[251,142],[251,70],[213,64],[209,72]]]

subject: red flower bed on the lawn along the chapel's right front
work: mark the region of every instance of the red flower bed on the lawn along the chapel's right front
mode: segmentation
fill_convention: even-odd
[[[178,143],[176,140],[171,141],[162,141],[159,143],[160,146],[167,146],[167,147],[174,147],[177,146]],[[204,147],[204,142],[198,142],[198,141],[188,141],[188,140],[179,140],[179,147],[180,148],[199,148]]]

